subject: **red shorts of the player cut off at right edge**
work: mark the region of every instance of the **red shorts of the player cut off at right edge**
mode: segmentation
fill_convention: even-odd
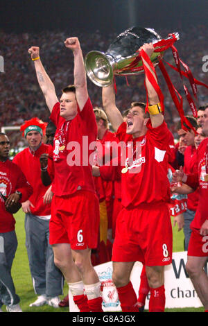
[[[192,229],[187,255],[208,257],[208,235],[200,235],[198,230]]]

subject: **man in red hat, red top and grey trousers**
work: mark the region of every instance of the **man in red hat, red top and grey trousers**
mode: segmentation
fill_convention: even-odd
[[[20,128],[28,142],[28,147],[18,153],[13,162],[26,175],[33,187],[33,194],[22,203],[25,215],[26,249],[31,269],[31,277],[37,300],[30,306],[49,304],[58,307],[58,295],[62,294],[63,277],[53,261],[53,249],[49,245],[49,220],[51,204],[44,203],[43,197],[50,186],[41,180],[40,156],[49,153],[49,145],[42,139],[46,132],[46,123],[36,117],[25,121]],[[53,173],[52,160],[48,162],[48,172]],[[53,175],[51,175],[53,178]]]

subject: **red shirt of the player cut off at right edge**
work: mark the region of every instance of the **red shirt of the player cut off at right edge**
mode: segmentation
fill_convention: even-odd
[[[208,166],[206,166],[206,157],[208,156],[208,139],[204,139],[197,150],[198,157],[198,185],[199,185],[199,201],[198,208],[196,209],[196,214],[191,222],[191,228],[200,230],[202,224],[208,220],[208,181],[205,180],[205,175],[208,175]],[[208,158],[208,157],[207,157]],[[206,169],[207,168],[207,169]],[[189,175],[187,179],[187,185],[196,188],[196,177],[197,174]]]

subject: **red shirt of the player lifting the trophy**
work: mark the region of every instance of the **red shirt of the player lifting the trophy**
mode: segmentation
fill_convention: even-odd
[[[120,127],[117,137],[128,144],[132,136],[126,134],[125,123]],[[153,128],[148,121],[147,127],[146,135],[132,139],[132,152],[138,153],[137,157],[132,157],[127,146],[127,152],[130,154],[126,155],[129,161],[125,166],[128,171],[121,175],[121,198],[124,207],[168,202],[170,199],[170,184],[167,178],[167,139],[170,137],[170,131],[165,122]],[[133,162],[130,162],[131,157]]]

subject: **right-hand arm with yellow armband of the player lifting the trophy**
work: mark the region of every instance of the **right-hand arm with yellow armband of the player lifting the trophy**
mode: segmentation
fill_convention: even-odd
[[[139,50],[141,50],[141,49],[143,49],[146,52],[146,54],[148,55],[149,58],[154,51],[153,44],[151,44],[151,43],[144,44],[143,46],[141,46],[141,48]],[[148,69],[151,71],[151,73],[153,74],[153,77],[155,78],[155,81],[157,83],[157,77],[155,76],[154,71],[150,68],[150,66],[148,65],[148,63],[146,61],[145,61],[145,64],[148,67]],[[159,97],[157,96],[157,92],[155,91],[155,88],[148,80],[147,75],[145,76],[145,83],[146,83],[146,89],[148,92],[148,101],[149,101],[149,110],[148,111],[150,113],[150,119],[151,119],[152,126],[153,126],[153,128],[156,128],[163,123],[164,116],[163,116],[162,112],[159,112],[160,111]]]

